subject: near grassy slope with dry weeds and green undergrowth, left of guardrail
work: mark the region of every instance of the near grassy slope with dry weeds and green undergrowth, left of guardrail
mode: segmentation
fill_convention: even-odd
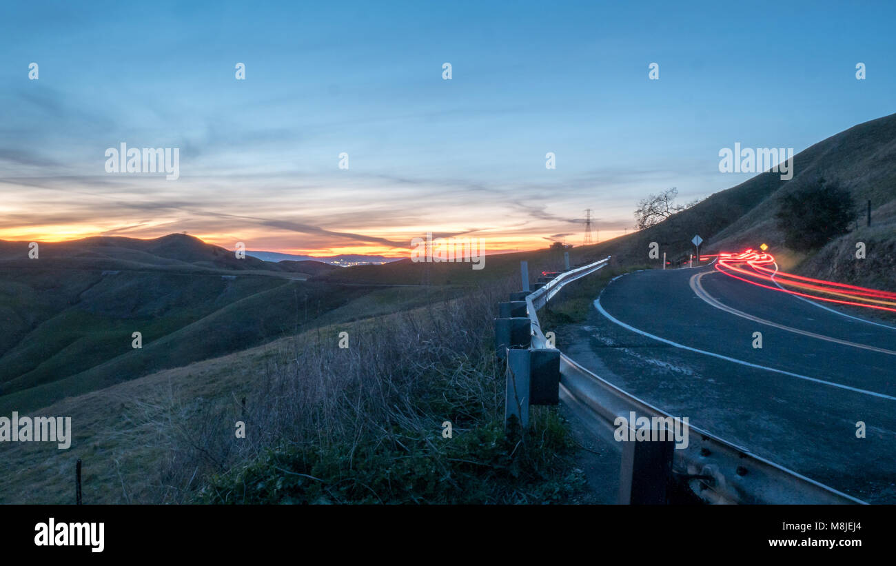
[[[581,501],[555,408],[504,432],[491,317],[510,287],[380,288],[344,307],[378,316],[57,401],[33,414],[71,416],[72,448],[4,446],[0,502],[71,502],[77,459],[90,504]]]

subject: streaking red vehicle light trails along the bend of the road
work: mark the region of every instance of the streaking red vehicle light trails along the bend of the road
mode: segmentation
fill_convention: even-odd
[[[816,301],[863,306],[896,313],[896,293],[785,273],[778,270],[775,258],[771,253],[756,252],[753,249],[749,249],[742,253],[701,255],[700,259],[704,260],[713,257],[718,258],[716,262],[717,270],[728,275],[728,277],[740,279],[757,287],[771,289],[772,291],[782,291],[790,295],[804,296]],[[770,264],[775,264],[774,270],[767,267]],[[743,266],[747,266],[748,269]],[[763,283],[765,282],[772,285],[764,285]]]

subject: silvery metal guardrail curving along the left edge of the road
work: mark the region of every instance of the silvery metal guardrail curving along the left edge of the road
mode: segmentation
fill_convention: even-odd
[[[538,322],[538,309],[566,284],[607,266],[609,257],[566,271],[544,287],[526,296],[531,325],[531,347],[548,347]],[[560,399],[600,437],[616,442],[613,432],[617,416],[676,418],[626,393],[595,373],[560,354]],[[855,497],[763,459],[749,450],[724,441],[702,429],[688,426],[687,448],[674,450],[674,474],[702,500],[713,503],[817,503],[865,504]],[[699,437],[700,442],[694,442]]]

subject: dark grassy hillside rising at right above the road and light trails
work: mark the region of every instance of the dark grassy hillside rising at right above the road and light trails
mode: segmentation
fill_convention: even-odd
[[[702,252],[737,251],[765,243],[785,263],[814,277],[852,282],[880,288],[896,288],[893,251],[896,249],[896,115],[884,116],[814,144],[794,156],[794,176],[782,181],[780,174],[762,173],[714,193],[694,207],[654,227],[575,248],[578,257],[614,255],[616,262],[636,265],[661,260],[648,258],[648,245],[657,242],[668,260],[681,262],[694,249],[694,234],[704,240]],[[819,177],[837,181],[849,190],[858,206],[857,225],[821,250],[794,253],[783,245],[783,235],[774,214],[780,198],[804,186],[814,186]],[[872,202],[872,226],[866,227],[866,202]],[[855,244],[865,242],[867,258],[856,260]]]

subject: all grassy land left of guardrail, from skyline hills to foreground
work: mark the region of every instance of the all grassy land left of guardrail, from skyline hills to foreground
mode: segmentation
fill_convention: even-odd
[[[0,414],[72,416],[74,438],[71,450],[4,446],[0,502],[68,502],[79,458],[91,503],[578,497],[555,409],[533,411],[524,437],[504,432],[491,320],[518,287],[520,256],[428,274],[409,262],[313,266],[297,280],[231,269],[220,249],[181,236],[156,244],[44,245],[40,268],[4,244]],[[524,257],[533,279],[562,262]],[[295,481],[306,471],[323,487]]]

